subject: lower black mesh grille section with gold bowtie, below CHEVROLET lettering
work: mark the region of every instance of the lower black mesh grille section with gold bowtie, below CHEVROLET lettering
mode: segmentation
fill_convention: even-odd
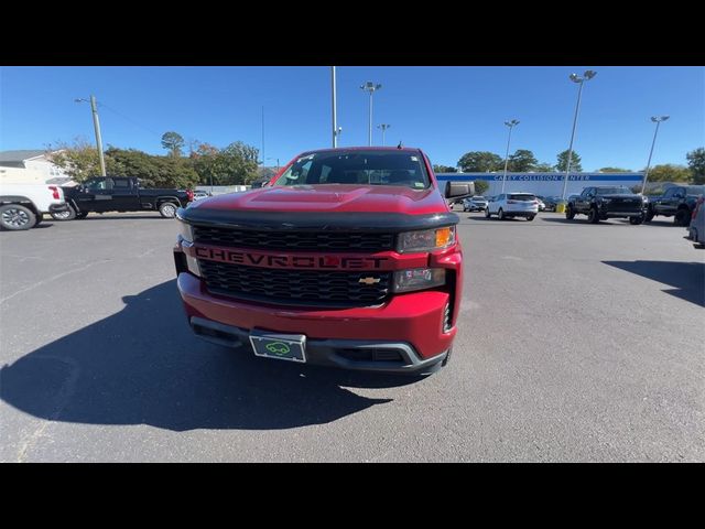
[[[246,267],[198,260],[208,291],[248,301],[308,306],[370,306],[390,292],[391,272],[328,272]],[[365,284],[365,278],[379,282]]]

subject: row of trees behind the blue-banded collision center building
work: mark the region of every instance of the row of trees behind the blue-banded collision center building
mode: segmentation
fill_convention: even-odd
[[[507,171],[525,173],[533,172],[564,172],[567,168],[568,151],[560,152],[556,156],[556,163],[539,162],[533,152],[528,149],[518,149],[510,154],[507,161]],[[673,163],[654,165],[649,170],[650,182],[693,182],[695,184],[705,184],[705,149],[698,148],[686,154],[687,166]],[[490,173],[502,172],[505,170],[505,159],[499,154],[489,151],[470,151],[463,154],[458,160],[457,168],[465,173]],[[457,168],[448,165],[434,165],[436,173],[454,173]],[[583,165],[578,153],[573,151],[571,156],[571,171],[581,172]],[[622,168],[601,168],[597,170],[601,173],[630,173],[630,169]],[[644,172],[646,168],[640,172]]]

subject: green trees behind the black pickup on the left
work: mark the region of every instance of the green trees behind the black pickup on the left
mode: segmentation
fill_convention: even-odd
[[[135,176],[145,187],[192,188],[196,185],[245,185],[258,177],[259,150],[241,141],[218,148],[193,141],[184,152],[185,141],[174,131],[162,136],[165,155],[149,154],[138,149],[109,145],[104,152],[106,173],[111,176]],[[100,174],[98,150],[87,140],[50,147],[61,151],[52,155],[77,182]]]

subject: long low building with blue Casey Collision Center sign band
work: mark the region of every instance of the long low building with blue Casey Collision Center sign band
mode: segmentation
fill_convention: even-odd
[[[436,173],[440,182],[473,182],[489,184],[489,196],[502,192],[503,173]],[[541,196],[561,196],[565,173],[507,173],[506,193],[534,193]],[[643,173],[571,173],[565,195],[577,194],[593,185],[626,185],[633,187],[643,181]],[[444,184],[445,185],[445,184]]]

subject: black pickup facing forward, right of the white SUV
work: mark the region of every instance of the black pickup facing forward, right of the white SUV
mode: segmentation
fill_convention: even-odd
[[[647,203],[623,185],[585,187],[583,193],[568,201],[565,218],[587,215],[587,220],[597,224],[608,218],[629,218],[629,224],[641,224]]]

